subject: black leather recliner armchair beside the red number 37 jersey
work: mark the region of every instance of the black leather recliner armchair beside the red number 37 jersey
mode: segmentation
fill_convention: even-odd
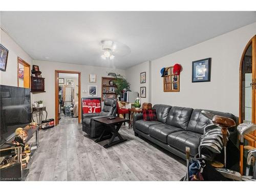
[[[116,116],[116,99],[107,98],[100,113],[82,114],[82,131],[90,137],[99,137],[103,131],[103,125],[94,119]]]

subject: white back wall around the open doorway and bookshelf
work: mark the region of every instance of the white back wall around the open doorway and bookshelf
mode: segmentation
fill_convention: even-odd
[[[32,102],[43,100],[48,112],[48,118],[55,118],[55,70],[81,72],[81,98],[89,96],[89,84],[97,86],[98,97],[101,97],[101,77],[107,77],[108,72],[115,72],[121,75],[125,75],[124,70],[75,65],[63,62],[34,60],[33,64],[39,66],[39,69],[42,72],[42,77],[45,77],[46,92],[33,94],[34,98]],[[96,74],[96,83],[89,83],[89,74]],[[86,90],[87,93],[82,93],[82,90]]]

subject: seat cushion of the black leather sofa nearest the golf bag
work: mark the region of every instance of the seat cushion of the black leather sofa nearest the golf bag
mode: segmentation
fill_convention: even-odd
[[[189,131],[175,132],[168,135],[167,143],[184,153],[186,152],[186,146],[188,146],[190,147],[190,155],[195,156],[198,153],[200,136],[202,134]]]

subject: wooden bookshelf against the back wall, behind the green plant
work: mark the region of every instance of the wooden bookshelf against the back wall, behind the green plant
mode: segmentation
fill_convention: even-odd
[[[115,91],[113,92],[113,90],[115,90],[117,88],[117,86],[110,85],[110,81],[111,80],[115,80],[115,78],[113,77],[102,77],[101,78],[101,100],[104,101],[105,98],[117,98],[117,94],[115,93]],[[105,92],[103,92],[105,91]]]

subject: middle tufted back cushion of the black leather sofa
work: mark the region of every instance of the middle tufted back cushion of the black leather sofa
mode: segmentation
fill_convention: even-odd
[[[186,130],[192,111],[192,108],[173,106],[170,109],[166,123]]]

